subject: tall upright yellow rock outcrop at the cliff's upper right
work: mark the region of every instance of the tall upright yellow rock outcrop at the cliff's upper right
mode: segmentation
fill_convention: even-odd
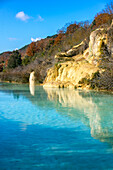
[[[89,58],[92,64],[100,64],[104,60],[110,61],[113,55],[113,25],[109,28],[99,28],[90,35]]]

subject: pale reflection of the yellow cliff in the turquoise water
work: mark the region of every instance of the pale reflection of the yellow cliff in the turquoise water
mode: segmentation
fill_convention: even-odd
[[[84,124],[90,126],[92,137],[103,142],[112,142],[113,96],[66,89],[45,88],[45,91],[48,94],[48,99],[56,103],[58,111],[60,111],[58,103],[62,107],[78,110],[78,115],[74,110],[63,114],[67,114],[67,116],[73,119],[79,117]]]

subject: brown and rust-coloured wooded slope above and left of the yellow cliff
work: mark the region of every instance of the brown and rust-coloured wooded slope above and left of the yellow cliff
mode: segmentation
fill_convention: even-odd
[[[32,42],[19,51],[0,54],[0,72],[2,72],[0,78],[17,82],[23,79],[23,82],[27,82],[33,69],[37,74],[37,81],[42,82],[46,76],[47,69],[56,62],[54,59],[56,53],[65,52],[79,44],[89,37],[91,31],[103,24],[109,25],[112,19],[113,3],[110,2],[105,9],[95,15],[92,23],[89,21],[68,23],[58,30],[55,35]]]

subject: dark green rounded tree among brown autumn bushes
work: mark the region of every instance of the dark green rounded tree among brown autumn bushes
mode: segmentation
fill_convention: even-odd
[[[21,54],[16,50],[8,60],[8,68],[15,68],[22,64]]]

